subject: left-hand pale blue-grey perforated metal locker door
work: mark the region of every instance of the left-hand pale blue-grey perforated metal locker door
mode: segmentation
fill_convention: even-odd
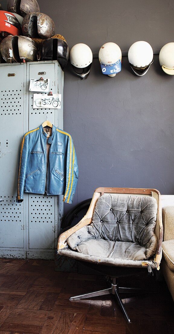
[[[26,64],[0,64],[0,257],[26,258],[25,198],[16,203],[18,154],[26,132]]]

